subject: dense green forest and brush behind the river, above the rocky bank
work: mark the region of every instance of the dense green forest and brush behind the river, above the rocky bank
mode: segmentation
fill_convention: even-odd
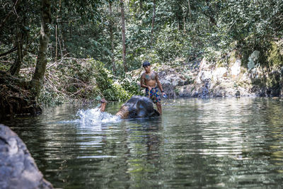
[[[283,35],[283,1],[277,0],[42,2],[51,10],[45,84],[38,98],[43,103],[102,96],[125,100],[140,93],[127,71],[139,69],[144,60],[167,64],[207,56],[213,61],[216,52],[225,56],[235,49],[244,59],[259,50],[262,64],[269,66],[272,41]],[[25,81],[35,78],[40,62],[42,2],[0,0],[0,70]]]

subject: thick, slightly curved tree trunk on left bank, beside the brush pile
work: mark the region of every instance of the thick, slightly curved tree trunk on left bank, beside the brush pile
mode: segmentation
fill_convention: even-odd
[[[50,30],[48,24],[51,23],[50,0],[42,0],[42,21],[40,29],[40,47],[37,56],[35,74],[30,81],[30,89],[36,98],[42,88],[46,64],[47,64],[47,45],[50,40]]]

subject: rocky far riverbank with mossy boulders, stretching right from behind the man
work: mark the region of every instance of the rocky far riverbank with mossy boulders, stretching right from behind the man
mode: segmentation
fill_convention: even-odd
[[[213,53],[214,59],[176,59],[152,67],[171,98],[283,96],[283,40],[273,42],[270,52],[264,54],[257,50],[245,56],[241,50]],[[142,71],[131,74],[138,78]]]

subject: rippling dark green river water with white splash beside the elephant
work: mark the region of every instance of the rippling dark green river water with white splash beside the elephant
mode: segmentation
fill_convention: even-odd
[[[120,103],[45,108],[5,125],[56,188],[281,188],[283,100],[163,101],[163,115],[120,120]],[[112,114],[112,115],[111,115]]]

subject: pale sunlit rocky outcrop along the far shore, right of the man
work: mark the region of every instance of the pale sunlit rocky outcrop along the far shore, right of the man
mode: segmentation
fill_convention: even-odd
[[[283,96],[283,40],[272,43],[268,55],[262,65],[258,50],[245,63],[235,51],[219,62],[203,58],[197,70],[190,69],[189,84],[174,84],[181,78],[179,74],[161,73],[160,81],[165,91],[174,91],[173,96],[180,97]]]

